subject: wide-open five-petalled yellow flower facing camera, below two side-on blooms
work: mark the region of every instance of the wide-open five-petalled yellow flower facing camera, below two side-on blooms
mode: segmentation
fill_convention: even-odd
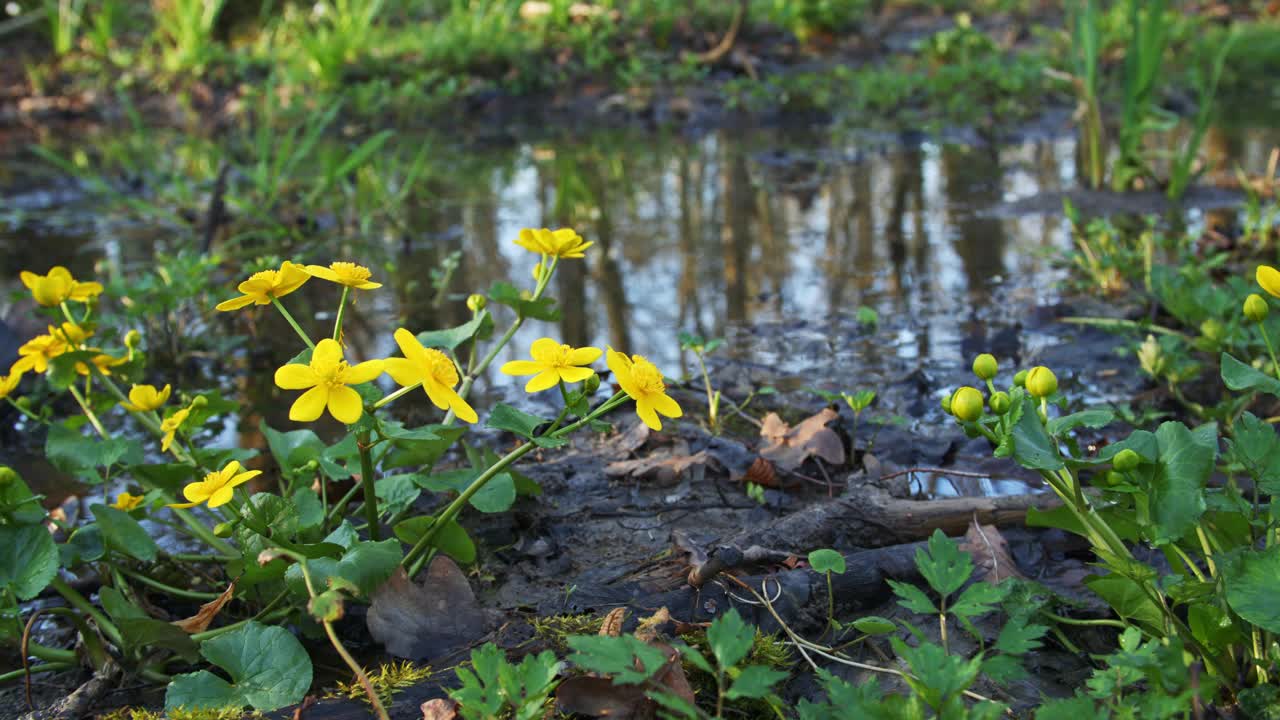
[[[329,407],[329,414],[339,421],[352,424],[365,413],[360,393],[347,386],[367,383],[383,374],[381,360],[369,360],[347,365],[342,346],[324,338],[311,352],[311,364],[293,363],[275,372],[275,384],[283,389],[307,389],[289,409],[289,419],[310,423]]]

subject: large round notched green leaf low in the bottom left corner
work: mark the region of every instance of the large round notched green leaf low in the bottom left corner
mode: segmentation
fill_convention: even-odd
[[[207,670],[175,675],[165,692],[165,710],[214,710],[251,706],[271,711],[301,702],[311,687],[311,659],[292,633],[250,621],[210,638],[200,653],[230,676]]]

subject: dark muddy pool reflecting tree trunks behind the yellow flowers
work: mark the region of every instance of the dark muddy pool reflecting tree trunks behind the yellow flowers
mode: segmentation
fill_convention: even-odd
[[[1220,168],[1261,167],[1276,140],[1251,129],[1210,138]],[[32,154],[3,164],[0,316],[14,336],[0,337],[0,355],[38,329],[31,309],[8,292],[20,288],[20,269],[65,264],[77,275],[128,277],[152,268],[159,252],[198,249],[201,233],[174,217],[204,217],[218,168],[230,158],[229,222],[212,250],[372,266],[387,287],[348,311],[357,354],[394,352],[397,327],[463,322],[461,300],[495,281],[530,284],[536,259],[512,243],[518,229],[572,225],[595,245],[585,260],[566,261],[552,287],[562,318],[530,323],[499,363],[552,336],[641,352],[668,375],[687,375],[696,365],[677,333],[726,337],[712,368],[730,397],[776,386],[799,405],[817,405],[803,388],[870,388],[881,404],[869,415],[908,430],[937,420],[929,383],[959,378],[966,356],[988,348],[1027,356],[1053,342],[1029,309],[1057,301],[1061,273],[1052,259],[1070,243],[1068,227],[1052,210],[1016,209],[1076,182],[1075,143],[1052,133],[992,147],[827,131],[609,132],[481,150],[397,136],[383,155],[399,164],[357,173],[355,190],[329,191],[280,233],[255,225],[255,208],[237,202],[253,197],[243,154],[221,155],[207,138],[92,131],[44,143],[119,195],[95,192],[83,177],[55,172]],[[415,187],[385,200],[421,147],[430,151]],[[433,272],[451,255],[457,269],[438,292]],[[210,304],[232,295],[236,266],[228,263],[228,274],[215,278]],[[312,282],[289,304],[319,336],[335,300],[332,286]],[[864,306],[878,325],[859,320]],[[220,320],[200,332],[250,333],[232,364],[266,372],[247,373],[233,387],[265,407],[270,424],[289,427],[268,365],[292,356],[296,338],[270,314],[241,320],[248,323]],[[488,396],[481,402],[530,402],[520,384],[489,380],[479,388]],[[695,387],[685,396],[690,409]],[[230,423],[218,442],[260,446],[256,425],[256,416]]]

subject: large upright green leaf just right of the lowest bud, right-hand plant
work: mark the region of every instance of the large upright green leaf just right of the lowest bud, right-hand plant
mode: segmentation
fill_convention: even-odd
[[[1181,423],[1156,429],[1160,460],[1151,479],[1152,542],[1175,542],[1196,527],[1204,512],[1204,484],[1217,457],[1217,425],[1189,430]]]

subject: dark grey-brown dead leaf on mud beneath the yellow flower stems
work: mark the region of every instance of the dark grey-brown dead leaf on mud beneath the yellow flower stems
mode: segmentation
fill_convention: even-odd
[[[489,632],[466,575],[443,555],[431,560],[421,585],[397,570],[374,592],[365,623],[387,652],[406,660],[442,657]]]

